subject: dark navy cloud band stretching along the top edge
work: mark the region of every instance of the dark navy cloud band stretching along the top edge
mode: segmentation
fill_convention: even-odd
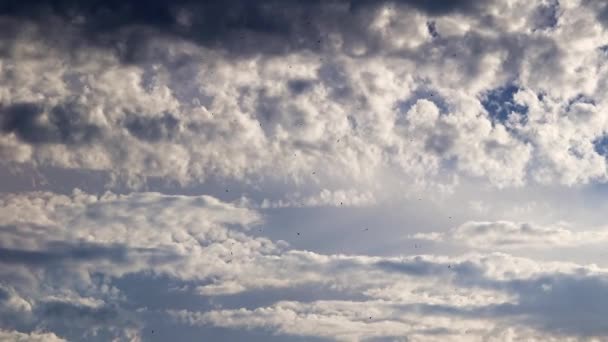
[[[445,15],[475,13],[477,1],[454,0],[108,0],[108,1],[3,1],[0,15],[29,19],[50,27],[59,18],[82,34],[86,42],[111,47],[123,61],[136,63],[152,53],[149,38],[179,37],[237,55],[283,54],[295,50],[320,51],[329,33],[339,32],[346,45],[365,42],[374,47],[367,33],[371,16],[379,6],[397,4]]]

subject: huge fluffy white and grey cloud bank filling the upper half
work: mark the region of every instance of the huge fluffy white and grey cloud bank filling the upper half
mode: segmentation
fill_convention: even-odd
[[[15,28],[0,69],[5,162],[101,170],[128,186],[606,176],[595,144],[606,131],[605,33],[593,6],[226,5],[250,16],[242,24],[212,4],[155,2],[169,15],[160,22],[133,5],[112,28],[85,5],[42,6],[52,32],[20,5],[4,9]],[[501,107],[509,101],[518,105]]]

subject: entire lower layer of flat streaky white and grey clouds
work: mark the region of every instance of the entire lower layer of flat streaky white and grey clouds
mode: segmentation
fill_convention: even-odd
[[[209,196],[24,193],[4,195],[0,213],[0,314],[7,317],[3,328],[21,333],[140,338],[141,313],[114,280],[147,274],[183,284],[180,291],[193,298],[220,302],[255,291],[328,289],[323,300],[285,301],[270,291],[279,297],[267,306],[163,308],[193,325],[340,340],[484,338],[512,334],[513,327],[521,327],[521,338],[608,334],[596,320],[551,323],[566,322],[577,310],[604,316],[586,300],[574,307],[563,302],[574,311],[554,310],[569,291],[606,291],[606,270],[594,265],[501,253],[379,257],[298,250],[250,235],[263,222],[257,212]]]

